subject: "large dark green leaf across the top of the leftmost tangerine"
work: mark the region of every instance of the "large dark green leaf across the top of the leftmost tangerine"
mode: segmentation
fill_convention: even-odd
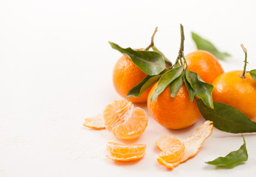
[[[113,49],[117,49],[123,55],[130,58],[142,72],[148,75],[157,75],[165,69],[165,59],[161,54],[151,51],[137,51],[130,47],[123,49],[117,44],[111,43]]]

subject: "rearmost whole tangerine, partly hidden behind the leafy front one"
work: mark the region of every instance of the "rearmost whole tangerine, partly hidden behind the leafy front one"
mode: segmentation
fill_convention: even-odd
[[[216,77],[224,73],[217,58],[205,50],[196,50],[186,55],[188,69],[196,72],[202,80],[212,83]]]

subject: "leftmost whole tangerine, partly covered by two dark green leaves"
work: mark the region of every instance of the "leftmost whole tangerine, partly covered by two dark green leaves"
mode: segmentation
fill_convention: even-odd
[[[130,58],[123,55],[114,66],[113,70],[113,83],[114,89],[117,93],[126,99],[128,92],[139,84],[147,74],[142,72],[138,66],[136,66]],[[133,103],[145,103],[147,102],[148,93],[151,88],[147,89],[139,97],[129,97],[128,100]]]

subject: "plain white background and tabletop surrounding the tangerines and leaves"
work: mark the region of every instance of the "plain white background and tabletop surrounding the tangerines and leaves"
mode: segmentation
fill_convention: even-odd
[[[179,49],[184,25],[185,54],[196,49],[190,32],[232,54],[224,70],[256,69],[255,1],[0,1],[0,176],[252,176],[256,136],[245,136],[249,160],[234,169],[204,162],[238,150],[241,135],[213,130],[198,155],[167,170],[156,162],[155,140],[162,133],[190,136],[204,119],[181,131],[162,128],[150,116],[134,142],[147,145],[137,162],[112,162],[106,131],[83,127],[113,100],[111,72],[120,53],[108,41],[134,49],[155,43],[170,60]],[[145,105],[139,105],[146,108]],[[149,114],[148,114],[149,115]]]

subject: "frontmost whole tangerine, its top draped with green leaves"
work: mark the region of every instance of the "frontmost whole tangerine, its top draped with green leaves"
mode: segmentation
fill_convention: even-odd
[[[151,96],[156,89],[156,84],[148,94],[148,111],[151,117],[165,128],[181,129],[193,125],[200,117],[196,100],[190,101],[186,86],[181,86],[176,97],[170,97],[170,86],[151,102]]]

